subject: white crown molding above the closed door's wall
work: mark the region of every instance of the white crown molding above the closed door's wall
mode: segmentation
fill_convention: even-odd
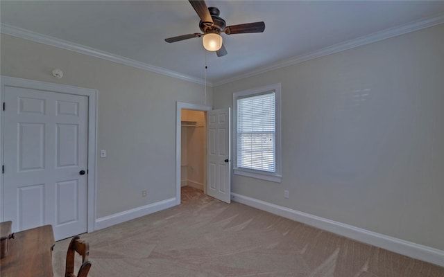
[[[14,37],[19,37],[22,39],[28,39],[33,42],[39,42],[39,43],[46,44],[49,46],[63,48],[63,49],[69,50],[69,51],[74,51],[77,53],[90,55],[93,57],[99,57],[100,59],[103,59],[103,60],[109,60],[111,62],[117,62],[119,64],[133,66],[137,69],[143,69],[146,71],[160,73],[162,75],[167,75],[167,76],[170,76],[173,78],[178,78],[180,80],[194,82],[197,84],[205,84],[205,81],[200,78],[194,78],[189,75],[185,75],[182,73],[178,73],[175,71],[170,71],[168,69],[164,69],[162,67],[153,66],[151,64],[146,64],[144,62],[138,62],[136,60],[131,60],[128,57],[122,57],[122,56],[108,53],[105,51],[100,51],[95,48],[91,48],[91,47],[84,46],[81,44],[76,44],[74,42],[68,42],[67,40],[58,39],[56,37],[51,37],[49,35],[42,35],[40,33],[35,33],[30,30],[25,30],[22,28],[17,28],[15,26],[10,26],[8,24],[3,24],[3,23],[1,24],[0,33],[6,34],[6,35],[12,35]],[[209,82],[207,82],[207,85],[212,87],[212,84]]]

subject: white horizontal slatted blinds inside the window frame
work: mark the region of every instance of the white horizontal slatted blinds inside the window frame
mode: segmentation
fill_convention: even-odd
[[[237,99],[237,167],[275,172],[275,92]]]

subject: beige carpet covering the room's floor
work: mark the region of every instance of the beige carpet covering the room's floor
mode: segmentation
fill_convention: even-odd
[[[80,238],[90,245],[91,277],[444,277],[444,267],[188,187],[180,206]],[[56,243],[56,276],[64,274],[68,244]]]

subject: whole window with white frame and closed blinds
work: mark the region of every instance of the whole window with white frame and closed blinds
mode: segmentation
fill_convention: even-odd
[[[239,91],[234,104],[234,174],[280,182],[280,84]]]

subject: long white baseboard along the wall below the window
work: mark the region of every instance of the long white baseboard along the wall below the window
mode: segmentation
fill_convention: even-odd
[[[291,208],[286,208],[283,206],[264,202],[259,199],[246,197],[244,195],[238,195],[237,193],[232,193],[231,199],[234,202],[245,204],[247,206],[252,206],[254,208],[258,208],[259,210],[267,211],[268,213],[273,213],[275,215],[280,215],[282,217],[288,218],[289,220],[295,220],[297,222],[314,226],[325,231],[336,233],[337,235],[342,235],[352,240],[364,242],[375,247],[380,247],[388,251],[393,251],[404,256],[409,256],[411,258],[416,258],[425,262],[431,262],[435,265],[444,267],[444,251],[439,249],[426,247],[425,245],[416,244],[407,240],[400,240],[398,238],[389,237],[388,235],[382,235],[380,233],[357,228],[355,226],[343,224],[341,222],[327,220],[323,217],[310,215],[309,213],[303,213]]]

